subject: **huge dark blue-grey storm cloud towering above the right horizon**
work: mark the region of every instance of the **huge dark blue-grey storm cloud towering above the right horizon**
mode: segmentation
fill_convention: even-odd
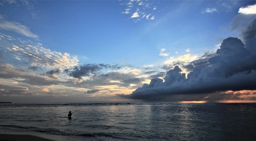
[[[216,55],[208,58],[207,64],[197,65],[185,77],[181,68],[176,66],[167,71],[164,80],[151,79],[150,84],[129,95],[120,95],[139,100],[163,100],[177,94],[211,94],[227,90],[254,90],[256,89],[256,54],[249,52],[245,47],[255,44],[242,43],[237,38],[225,39]],[[204,61],[203,61],[204,62]],[[205,63],[203,63],[205,64]]]

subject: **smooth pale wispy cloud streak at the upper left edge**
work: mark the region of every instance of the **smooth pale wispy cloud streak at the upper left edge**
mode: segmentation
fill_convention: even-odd
[[[21,25],[20,23],[0,20],[0,28],[7,31],[14,31],[15,33],[19,33],[23,36],[28,36],[34,39],[38,38],[36,34],[31,33],[28,27]]]

